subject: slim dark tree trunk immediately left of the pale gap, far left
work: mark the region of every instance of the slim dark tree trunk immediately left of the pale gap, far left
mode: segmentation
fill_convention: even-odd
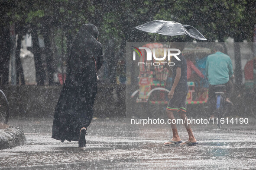
[[[20,77],[21,85],[25,85],[25,78],[24,78],[23,68],[22,68],[22,64],[21,64],[21,60],[20,60],[21,40],[22,40],[22,35],[21,35],[21,33],[19,33],[18,34],[18,39],[17,39],[17,47],[16,47],[16,51],[15,51],[16,85],[19,85],[19,77]]]

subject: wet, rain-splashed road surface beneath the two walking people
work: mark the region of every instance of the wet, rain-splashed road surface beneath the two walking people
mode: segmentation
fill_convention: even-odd
[[[124,120],[93,120],[87,147],[51,138],[52,120],[11,120],[26,144],[0,150],[0,169],[256,169],[256,130],[194,128],[197,146],[165,147],[170,129],[130,129]],[[178,129],[187,140],[185,129]]]

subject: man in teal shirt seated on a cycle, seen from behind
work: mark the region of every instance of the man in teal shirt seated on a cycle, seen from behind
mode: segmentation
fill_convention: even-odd
[[[230,78],[233,77],[233,67],[231,59],[228,55],[224,54],[224,47],[221,44],[217,44],[214,48],[215,54],[211,54],[206,60],[206,76],[209,81],[208,89],[208,101],[210,107],[214,107],[214,86],[215,85],[226,85],[226,102],[230,102],[230,93],[233,90],[233,83]]]

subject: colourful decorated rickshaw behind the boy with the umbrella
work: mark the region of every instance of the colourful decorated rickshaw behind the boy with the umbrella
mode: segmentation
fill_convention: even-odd
[[[156,49],[156,57],[162,58],[164,54],[164,49],[167,48],[161,43],[145,44],[143,47],[148,47],[151,50]],[[182,54],[191,58],[207,57],[211,53],[208,48],[185,48]],[[201,57],[201,58],[202,58]],[[165,109],[168,104],[168,93],[171,89],[172,78],[170,76],[171,72],[164,66],[164,61],[154,61],[158,62],[158,66],[149,65],[139,65],[139,76],[138,83],[139,89],[134,91],[131,95],[136,104],[141,104],[143,110],[146,112],[146,116],[152,118],[165,118]],[[192,59],[191,59],[192,60]],[[145,62],[145,53],[142,50],[142,57],[139,62]],[[195,77],[195,76],[194,76]],[[202,88],[203,84],[200,79],[190,79],[188,82],[188,95],[187,104],[204,104],[207,102],[208,94],[207,88]],[[138,115],[136,115],[138,116]]]

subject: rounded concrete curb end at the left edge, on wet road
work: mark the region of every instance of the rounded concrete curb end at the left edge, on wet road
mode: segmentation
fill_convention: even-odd
[[[0,149],[23,145],[25,142],[25,135],[18,127],[10,126],[8,129],[0,129]]]

